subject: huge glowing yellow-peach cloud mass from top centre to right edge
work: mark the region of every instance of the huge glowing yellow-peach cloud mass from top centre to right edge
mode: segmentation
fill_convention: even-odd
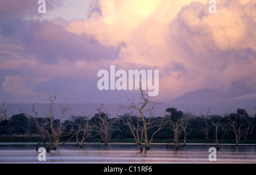
[[[68,30],[104,45],[125,43],[116,64],[163,70],[162,98],[204,87],[225,91],[255,74],[255,2],[220,0],[217,14],[210,14],[209,6],[207,1],[98,0],[90,11],[98,15],[75,20]]]

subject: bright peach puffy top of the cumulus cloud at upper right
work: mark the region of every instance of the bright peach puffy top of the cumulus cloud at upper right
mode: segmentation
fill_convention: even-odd
[[[179,25],[193,52],[237,51],[255,48],[255,23],[238,1],[220,1],[217,14],[209,14],[201,3],[191,3],[179,12]]]

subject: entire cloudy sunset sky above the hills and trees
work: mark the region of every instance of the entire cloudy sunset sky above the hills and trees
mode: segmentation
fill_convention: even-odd
[[[256,1],[0,1],[0,101],[115,103],[137,90],[98,90],[99,70],[159,70],[155,101],[200,89],[256,94]]]

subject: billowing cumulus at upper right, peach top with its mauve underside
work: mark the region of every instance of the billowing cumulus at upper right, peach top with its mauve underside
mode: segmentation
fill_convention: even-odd
[[[177,57],[197,72],[189,88],[227,90],[230,84],[255,74],[255,22],[238,1],[219,1],[217,14],[193,2],[184,6],[170,27],[170,43],[180,44]],[[254,81],[254,80],[253,80]]]

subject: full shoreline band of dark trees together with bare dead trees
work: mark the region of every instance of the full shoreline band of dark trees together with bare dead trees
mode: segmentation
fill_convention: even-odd
[[[18,114],[8,118],[7,111],[11,106],[2,105],[0,120],[0,135],[39,136],[47,151],[56,150],[58,145],[76,140],[77,147],[82,148],[86,139],[101,139],[108,145],[111,139],[133,139],[137,147],[143,151],[154,139],[174,140],[174,146],[179,149],[179,140],[205,139],[214,140],[216,148],[220,149],[224,140],[256,140],[256,118],[250,117],[244,109],[225,116],[209,115],[210,109],[199,115],[184,113],[175,108],[166,109],[165,116],[154,116],[154,109],[159,103],[152,102],[141,90],[141,101],[136,103],[129,99],[130,106],[121,106],[127,112],[122,116],[112,116],[104,106],[97,108],[93,116],[71,116],[64,120],[64,115],[71,110],[69,106],[61,108],[61,116],[56,117],[53,111],[56,97],[51,97],[48,114],[39,116],[33,105],[33,115]],[[65,140],[65,141],[63,141]],[[47,144],[47,145],[46,145]]]

